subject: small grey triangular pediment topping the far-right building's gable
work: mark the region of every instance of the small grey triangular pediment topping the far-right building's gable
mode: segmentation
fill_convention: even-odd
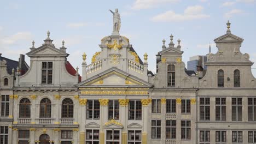
[[[234,34],[227,33],[227,34],[224,34],[224,35],[214,39],[214,41],[216,43],[232,43],[232,42],[233,43],[242,43],[243,39],[240,37],[237,37]]]

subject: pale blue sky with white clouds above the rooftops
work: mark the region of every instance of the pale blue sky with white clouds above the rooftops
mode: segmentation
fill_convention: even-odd
[[[112,14],[108,9],[119,9],[120,34],[143,58],[149,55],[149,70],[155,70],[155,55],[166,45],[169,36],[174,43],[181,39],[183,61],[190,56],[206,55],[213,39],[225,34],[226,21],[231,22],[231,33],[245,39],[241,52],[249,53],[256,62],[254,40],[256,33],[256,0],[131,0],[131,1],[0,1],[0,53],[18,59],[19,53],[30,51],[31,41],[39,47],[51,32],[56,47],[65,40],[68,61],[81,68],[82,53],[92,55],[100,51],[101,38],[112,32]],[[29,63],[29,58],[26,57]],[[256,76],[256,65],[253,65]],[[81,71],[81,69],[79,70]]]

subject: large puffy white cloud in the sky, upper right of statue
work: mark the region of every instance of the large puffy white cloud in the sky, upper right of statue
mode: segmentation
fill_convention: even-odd
[[[169,10],[165,13],[152,17],[152,21],[188,21],[196,19],[208,18],[210,15],[203,14],[203,7],[201,5],[190,6],[184,10],[184,14],[176,14]]]

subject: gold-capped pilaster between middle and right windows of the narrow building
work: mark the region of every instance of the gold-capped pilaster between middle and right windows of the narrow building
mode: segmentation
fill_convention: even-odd
[[[181,98],[176,99],[176,143],[181,143]]]

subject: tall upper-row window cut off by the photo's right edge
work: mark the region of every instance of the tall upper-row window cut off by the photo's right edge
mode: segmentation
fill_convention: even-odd
[[[256,98],[248,98],[248,121],[256,121]]]

